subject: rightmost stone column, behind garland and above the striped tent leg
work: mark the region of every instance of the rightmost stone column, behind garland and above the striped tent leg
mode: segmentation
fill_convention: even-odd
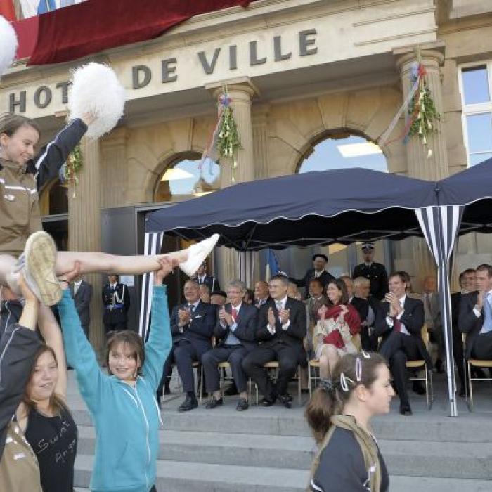
[[[417,62],[416,46],[397,48],[393,53],[396,56],[396,66],[401,74],[404,99],[412,85],[410,74],[413,63]],[[435,122],[436,131],[429,135],[427,145],[424,145],[417,135],[408,139],[406,143],[407,169],[408,176],[412,178],[437,181],[449,174],[444,122],[442,121],[444,118],[444,106],[440,72],[440,67],[444,62],[444,43],[437,41],[433,44],[420,46],[420,59],[427,72],[427,84],[436,105],[436,110],[441,115],[441,121]],[[417,280],[414,287],[415,290],[419,290],[422,279],[427,274],[436,271],[435,261],[424,239],[413,239],[413,264]]]

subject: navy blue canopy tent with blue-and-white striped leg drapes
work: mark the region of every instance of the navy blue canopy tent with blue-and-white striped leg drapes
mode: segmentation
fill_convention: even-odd
[[[492,159],[437,182],[368,169],[262,179],[148,213],[145,252],[159,251],[164,233],[186,240],[219,233],[219,245],[243,252],[423,235],[438,266],[450,415],[455,416],[449,261],[458,233],[492,230],[491,195]],[[144,279],[142,335],[151,284],[150,277]]]

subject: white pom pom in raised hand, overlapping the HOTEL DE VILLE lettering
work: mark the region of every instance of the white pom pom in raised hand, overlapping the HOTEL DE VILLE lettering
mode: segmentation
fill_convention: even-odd
[[[73,72],[70,119],[87,113],[96,116],[89,124],[87,136],[99,138],[111,131],[123,116],[125,99],[124,88],[108,65],[89,63]]]

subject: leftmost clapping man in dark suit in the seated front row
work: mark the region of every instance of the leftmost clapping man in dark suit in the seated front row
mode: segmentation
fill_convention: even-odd
[[[193,362],[200,361],[206,351],[212,349],[211,338],[214,333],[216,306],[200,300],[200,285],[188,280],[184,285],[186,302],[175,306],[171,313],[171,333],[173,347],[164,363],[162,380],[157,389],[157,401],[162,397],[162,387],[166,377],[171,374],[171,364],[176,364],[183,382],[186,399],[178,410],[186,412],[197,408]]]

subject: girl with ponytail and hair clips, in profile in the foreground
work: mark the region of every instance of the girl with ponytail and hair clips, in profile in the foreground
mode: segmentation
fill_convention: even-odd
[[[319,449],[308,492],[387,492],[389,477],[370,419],[389,412],[394,396],[387,363],[379,354],[343,356],[322,379],[306,407]]]

